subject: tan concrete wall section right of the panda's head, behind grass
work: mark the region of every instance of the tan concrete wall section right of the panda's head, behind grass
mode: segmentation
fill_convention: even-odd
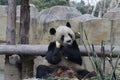
[[[88,41],[94,45],[100,45],[101,41],[106,41],[109,44],[111,21],[106,19],[94,19],[81,23],[80,31],[82,33],[83,41],[87,44],[86,35]]]

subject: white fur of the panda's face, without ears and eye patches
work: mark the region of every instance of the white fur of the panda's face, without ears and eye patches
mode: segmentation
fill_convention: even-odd
[[[71,34],[72,38],[68,35]],[[64,41],[61,41],[61,36],[64,35]],[[67,42],[71,40],[71,42]],[[59,26],[56,29],[56,33],[55,33],[55,41],[59,41],[61,44],[69,44],[71,45],[73,43],[73,41],[75,40],[75,34],[74,32],[71,30],[71,28],[67,27],[67,26]]]

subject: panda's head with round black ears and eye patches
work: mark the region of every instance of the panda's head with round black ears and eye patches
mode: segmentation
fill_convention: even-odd
[[[62,45],[72,45],[75,40],[75,34],[72,31],[69,22],[67,22],[66,26],[59,26],[57,29],[51,28],[50,34],[55,35],[55,40],[60,42]]]

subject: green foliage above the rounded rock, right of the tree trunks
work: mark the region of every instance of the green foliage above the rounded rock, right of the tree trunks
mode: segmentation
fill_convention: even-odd
[[[56,5],[67,5],[66,0],[30,0],[30,3],[34,4],[39,11]]]

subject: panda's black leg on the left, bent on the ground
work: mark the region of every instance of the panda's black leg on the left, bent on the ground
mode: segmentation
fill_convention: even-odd
[[[36,78],[48,78],[53,72],[53,68],[45,65],[39,65],[36,69]]]

